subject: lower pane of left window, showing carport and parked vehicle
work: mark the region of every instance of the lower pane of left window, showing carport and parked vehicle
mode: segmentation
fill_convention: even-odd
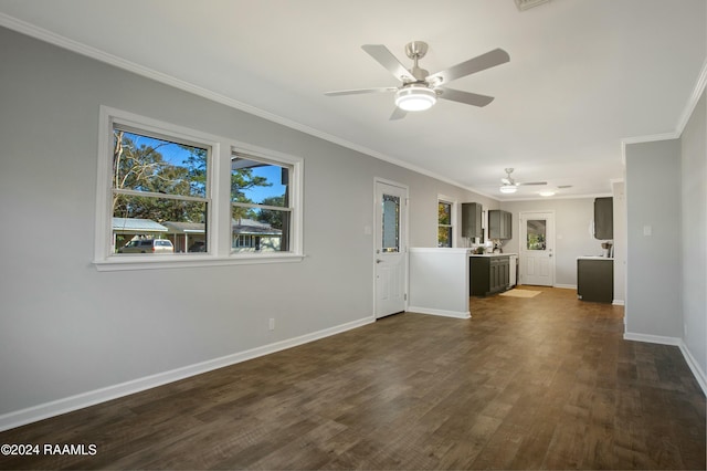
[[[117,253],[150,253],[126,245],[151,239],[169,240],[173,248],[170,252],[207,251],[208,205],[203,201],[114,195],[113,208],[113,245]]]

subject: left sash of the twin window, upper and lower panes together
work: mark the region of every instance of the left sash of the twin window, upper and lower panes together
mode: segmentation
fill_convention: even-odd
[[[112,254],[189,253],[208,239],[210,155],[210,146],[114,123]]]

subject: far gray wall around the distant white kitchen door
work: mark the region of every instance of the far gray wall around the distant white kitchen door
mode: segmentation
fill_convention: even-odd
[[[593,198],[547,199],[535,201],[504,201],[502,209],[513,213],[513,239],[504,245],[504,252],[520,250],[520,212],[555,211],[555,284],[577,287],[577,258],[600,255],[601,241],[590,233],[594,218]]]

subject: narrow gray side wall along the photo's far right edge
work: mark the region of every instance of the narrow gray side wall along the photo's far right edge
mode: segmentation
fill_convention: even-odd
[[[682,280],[685,344],[707,371],[707,101],[703,91],[682,140]]]

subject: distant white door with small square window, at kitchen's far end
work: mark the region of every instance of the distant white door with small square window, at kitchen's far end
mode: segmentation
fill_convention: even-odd
[[[520,213],[520,284],[555,285],[555,213]]]

